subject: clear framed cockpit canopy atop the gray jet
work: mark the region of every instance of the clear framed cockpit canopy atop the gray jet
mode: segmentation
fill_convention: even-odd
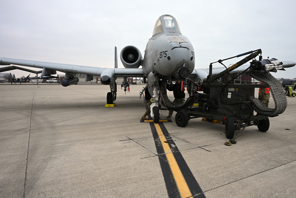
[[[153,35],[162,32],[182,34],[178,21],[170,15],[162,15],[155,23]]]

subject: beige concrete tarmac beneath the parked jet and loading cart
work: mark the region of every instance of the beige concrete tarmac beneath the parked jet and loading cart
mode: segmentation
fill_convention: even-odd
[[[118,85],[116,106],[105,107],[106,85],[0,83],[0,197],[186,197],[172,193],[140,122],[142,88]],[[296,97],[287,100],[267,132],[249,126],[231,146],[222,123],[163,122],[202,191],[192,197],[296,197]]]

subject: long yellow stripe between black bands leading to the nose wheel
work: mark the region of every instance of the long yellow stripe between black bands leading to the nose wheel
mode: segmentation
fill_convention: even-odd
[[[186,180],[185,180],[185,178],[184,178],[184,176],[183,176],[183,174],[182,174],[182,172],[180,170],[180,167],[178,166],[176,158],[173,155],[168,143],[165,142],[167,140],[165,139],[163,131],[161,130],[159,124],[154,123],[154,125],[155,125],[155,128],[156,128],[157,134],[159,136],[161,145],[163,146],[165,156],[166,156],[166,158],[168,160],[168,164],[170,166],[170,170],[172,171],[172,174],[173,174],[173,177],[175,179],[176,186],[178,188],[180,196],[182,198],[192,197],[192,194],[191,194],[191,192],[189,190],[189,187],[188,187],[188,185],[186,183]]]

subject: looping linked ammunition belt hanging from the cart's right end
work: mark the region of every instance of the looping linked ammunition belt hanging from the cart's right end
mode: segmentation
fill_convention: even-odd
[[[271,96],[274,100],[274,109],[266,107],[259,99],[250,97],[252,102],[251,106],[259,115],[279,115],[284,113],[287,108],[287,98],[284,92],[284,88],[281,83],[273,77],[269,72],[260,72],[255,70],[249,70],[250,75],[256,80],[264,83],[270,88]]]

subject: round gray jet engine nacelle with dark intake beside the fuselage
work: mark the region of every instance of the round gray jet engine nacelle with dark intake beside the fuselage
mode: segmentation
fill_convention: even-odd
[[[125,68],[139,68],[143,57],[140,50],[135,46],[126,46],[120,52],[120,60]]]

